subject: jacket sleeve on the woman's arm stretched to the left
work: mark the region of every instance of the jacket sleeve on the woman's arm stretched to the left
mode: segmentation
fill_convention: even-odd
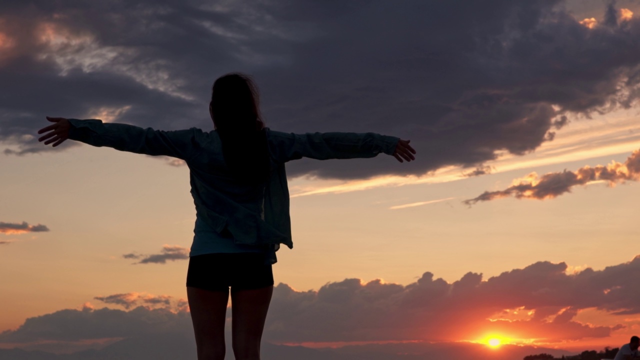
[[[129,124],[103,123],[102,120],[68,119],[69,138],[97,147],[113,147],[136,154],[166,155],[190,160],[199,151],[196,141],[200,129],[178,131],[154,130]]]

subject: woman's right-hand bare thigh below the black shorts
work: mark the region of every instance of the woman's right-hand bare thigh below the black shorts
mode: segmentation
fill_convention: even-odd
[[[260,340],[273,285],[256,290],[231,289],[232,343],[236,360],[260,360]]]

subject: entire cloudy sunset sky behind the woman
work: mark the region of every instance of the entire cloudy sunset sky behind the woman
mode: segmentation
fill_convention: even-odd
[[[36,131],[45,116],[209,131],[232,71],[272,129],[417,151],[287,164],[274,352],[619,347],[640,333],[639,15],[637,0],[3,1],[0,349],[191,336],[188,167]]]

